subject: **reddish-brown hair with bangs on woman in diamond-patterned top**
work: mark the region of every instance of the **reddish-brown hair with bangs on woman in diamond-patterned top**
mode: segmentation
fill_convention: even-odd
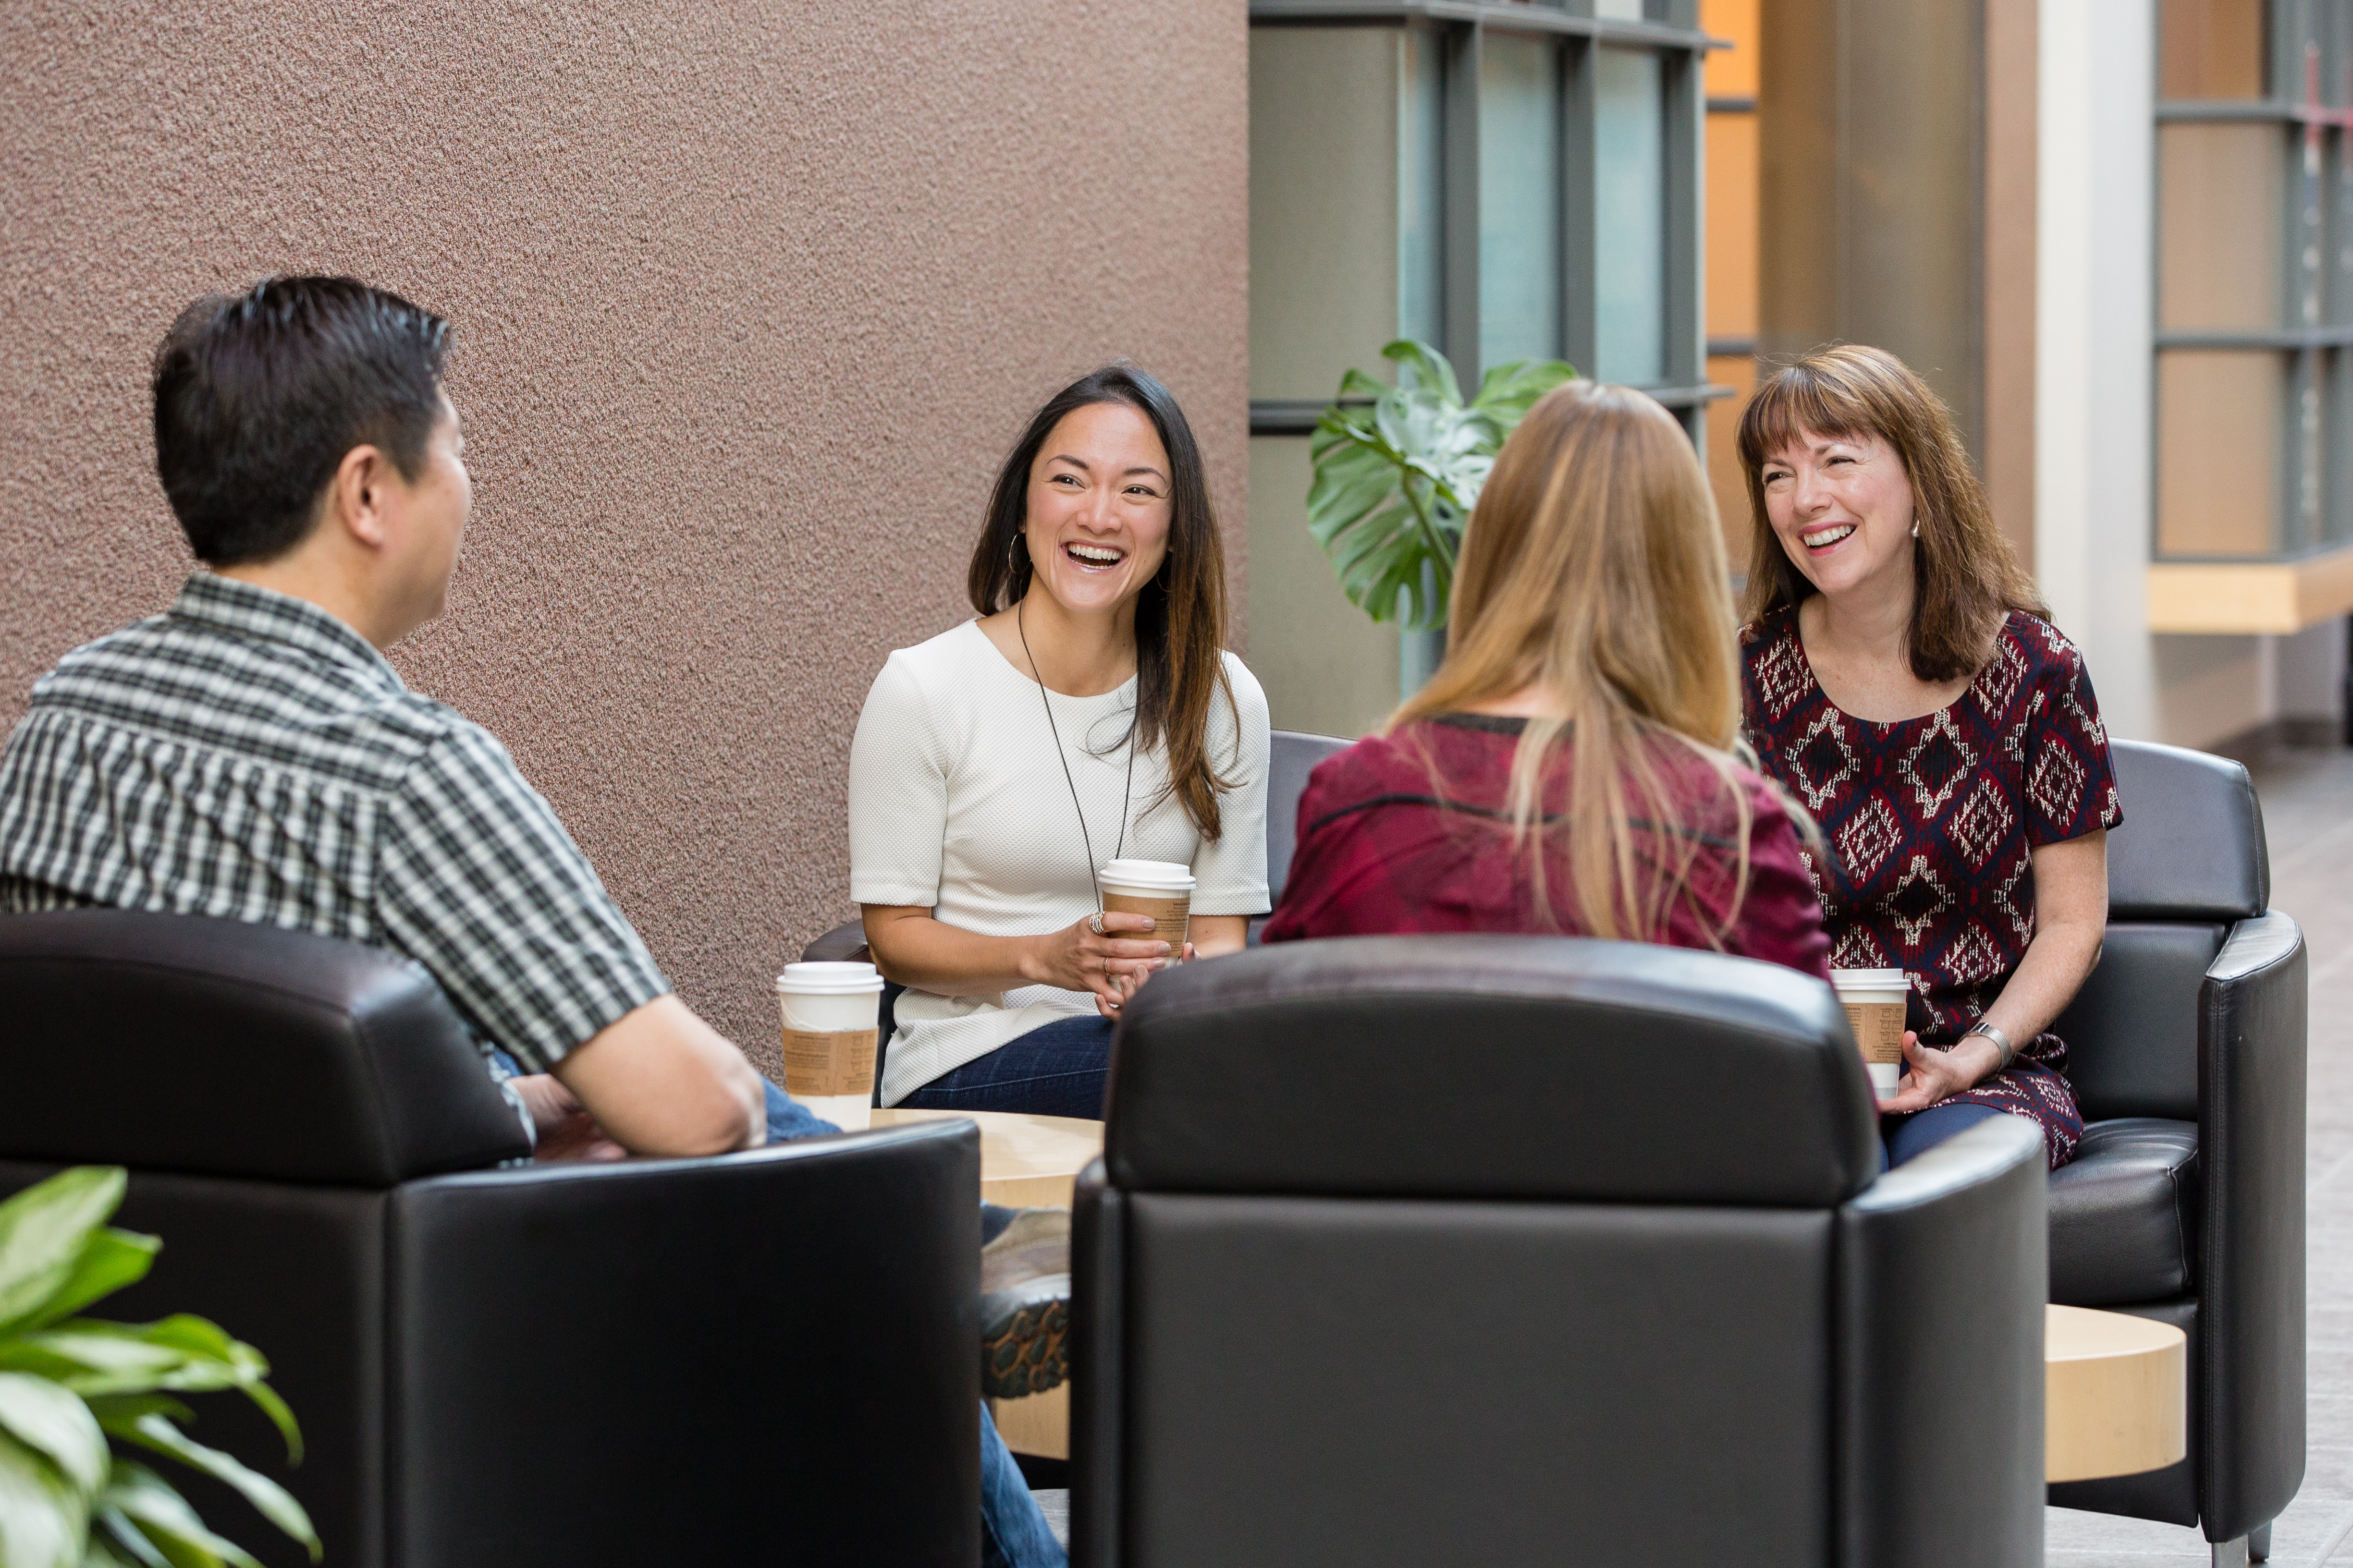
[[[1765,517],[1765,463],[1805,435],[1887,442],[1913,487],[1911,668],[1925,682],[1977,675],[1993,656],[2002,618],[2019,609],[2049,621],[2035,583],[1993,524],[1986,487],[1953,433],[1953,411],[1885,348],[1817,348],[1777,369],[1741,414],[1748,480],[1748,592],[1741,618],[1762,621],[1800,604],[1814,585],[1788,559]]]

